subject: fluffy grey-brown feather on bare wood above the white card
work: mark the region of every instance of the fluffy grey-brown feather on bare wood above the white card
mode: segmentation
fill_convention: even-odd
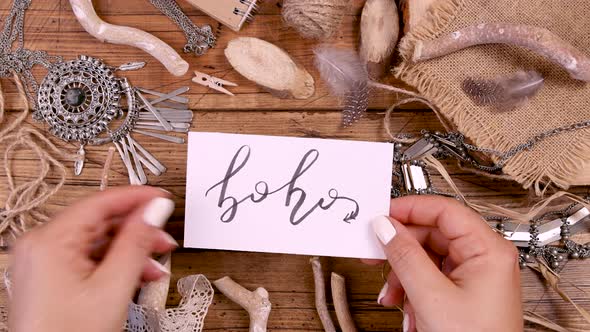
[[[314,50],[315,65],[331,93],[345,101],[342,124],[349,126],[362,117],[369,106],[369,74],[358,54],[329,46]]]

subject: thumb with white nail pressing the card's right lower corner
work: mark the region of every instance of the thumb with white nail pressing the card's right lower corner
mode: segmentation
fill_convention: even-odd
[[[421,306],[423,300],[455,287],[404,225],[387,217],[378,217],[371,224],[391,269],[414,304]]]

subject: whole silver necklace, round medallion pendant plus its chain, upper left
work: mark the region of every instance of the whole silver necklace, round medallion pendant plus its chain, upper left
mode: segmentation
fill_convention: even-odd
[[[0,77],[17,73],[26,84],[31,104],[36,105],[33,118],[45,121],[49,132],[61,140],[80,144],[74,173],[82,172],[86,145],[111,142],[127,168],[131,184],[147,183],[144,167],[157,176],[164,173],[166,167],[132,134],[184,143],[183,138],[168,133],[188,132],[190,128],[193,114],[188,109],[188,98],[179,96],[188,88],[164,94],[134,88],[126,78],[115,75],[141,69],[145,66],[142,62],[110,67],[89,56],[63,61],[43,51],[25,49],[24,17],[30,4],[31,0],[14,0],[6,17],[0,33]],[[36,64],[48,69],[41,85],[31,73]],[[154,97],[149,99],[147,95]],[[116,120],[120,124],[111,128]]]

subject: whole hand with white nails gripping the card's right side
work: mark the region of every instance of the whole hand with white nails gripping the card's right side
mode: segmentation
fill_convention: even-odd
[[[379,294],[405,331],[522,331],[518,252],[480,215],[435,196],[392,200],[373,229],[392,271]]]

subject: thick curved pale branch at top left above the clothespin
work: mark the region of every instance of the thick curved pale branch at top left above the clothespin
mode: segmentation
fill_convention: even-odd
[[[92,0],[70,0],[70,5],[84,30],[96,39],[142,49],[160,61],[175,76],[182,76],[188,71],[188,63],[172,47],[154,35],[103,21],[96,14]]]

